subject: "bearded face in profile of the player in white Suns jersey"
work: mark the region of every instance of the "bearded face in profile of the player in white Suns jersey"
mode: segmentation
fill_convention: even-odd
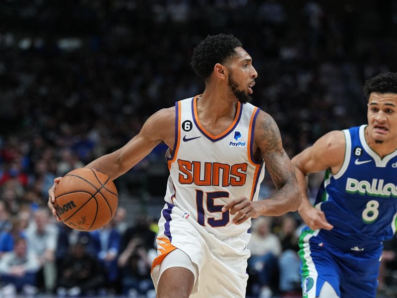
[[[235,49],[237,55],[233,56],[228,63],[229,77],[228,85],[231,93],[241,102],[251,101],[254,91],[255,78],[257,71],[252,66],[252,58],[241,47]]]

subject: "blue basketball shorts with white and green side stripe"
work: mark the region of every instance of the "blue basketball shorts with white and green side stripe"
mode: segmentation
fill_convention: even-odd
[[[306,227],[299,238],[303,297],[319,297],[328,282],[340,298],[375,298],[382,243],[352,247],[346,239],[336,247],[323,234]]]

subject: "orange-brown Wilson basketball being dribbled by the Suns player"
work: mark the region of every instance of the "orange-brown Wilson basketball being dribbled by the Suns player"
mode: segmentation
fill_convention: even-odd
[[[117,204],[113,181],[92,168],[68,172],[55,189],[58,216],[66,225],[80,231],[92,231],[109,223]]]

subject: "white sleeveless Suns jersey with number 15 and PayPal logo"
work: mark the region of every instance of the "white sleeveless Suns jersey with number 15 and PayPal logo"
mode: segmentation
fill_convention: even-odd
[[[237,104],[233,123],[213,136],[200,124],[197,99],[176,102],[175,145],[167,152],[170,176],[165,201],[180,208],[208,232],[236,236],[247,232],[251,220],[232,224],[222,207],[234,198],[258,199],[265,164],[253,157],[255,121],[260,109]]]

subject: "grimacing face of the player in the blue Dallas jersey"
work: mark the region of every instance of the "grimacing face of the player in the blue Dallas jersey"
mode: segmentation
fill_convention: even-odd
[[[372,92],[368,100],[368,133],[375,143],[397,138],[397,94]]]

